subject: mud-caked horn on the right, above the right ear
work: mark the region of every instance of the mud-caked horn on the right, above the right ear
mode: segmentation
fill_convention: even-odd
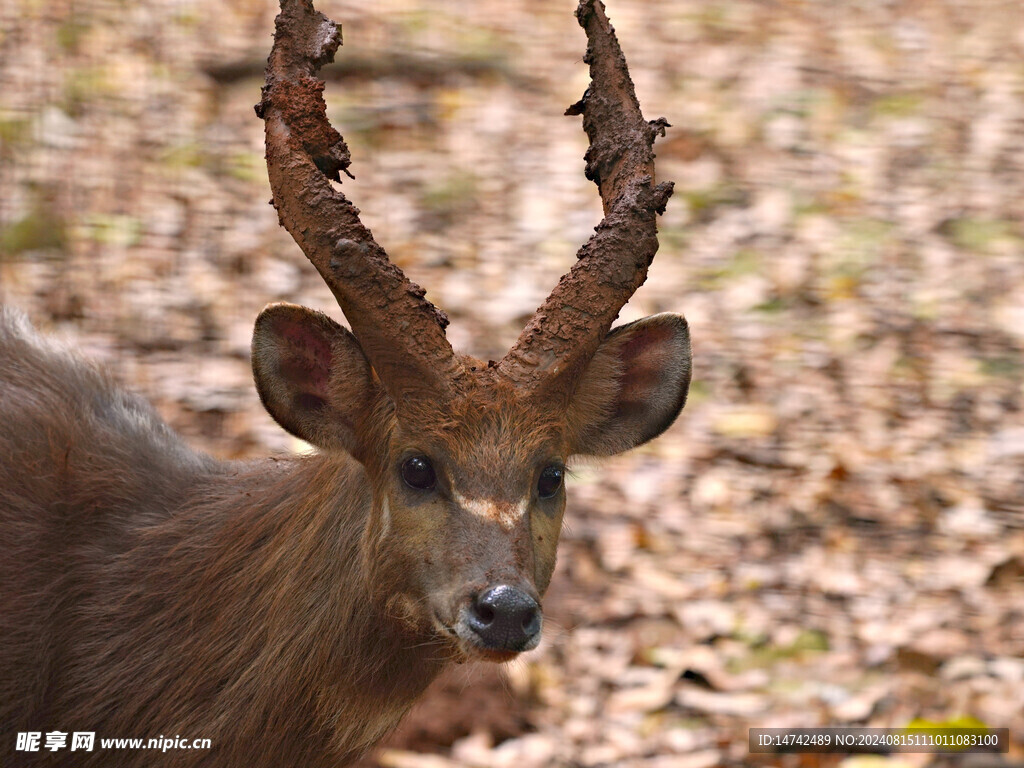
[[[499,364],[515,385],[563,402],[623,305],[646,280],[657,252],[655,217],[673,186],[654,185],[654,137],[669,124],[643,119],[601,0],[581,0],[577,18],[587,32],[584,60],[591,85],[565,114],[583,115],[590,138],[587,178],[598,186],[604,219]]]

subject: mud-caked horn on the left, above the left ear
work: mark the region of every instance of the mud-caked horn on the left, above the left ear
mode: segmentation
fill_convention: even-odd
[[[447,316],[395,266],[331,184],[348,172],[348,146],[327,119],[321,67],[334,60],[341,29],[310,0],[281,0],[266,85],[266,164],[282,225],[327,282],[384,388],[398,408],[409,397],[443,396],[462,367]]]

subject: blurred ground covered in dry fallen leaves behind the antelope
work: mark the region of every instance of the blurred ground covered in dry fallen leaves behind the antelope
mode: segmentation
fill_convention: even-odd
[[[319,7],[343,189],[454,345],[501,356],[600,219],[574,4]],[[251,384],[259,309],[341,319],[267,205],[275,11],[0,0],[0,301],[223,458],[302,450]],[[1024,760],[1024,7],[608,12],[676,182],[622,319],[687,315],[690,399],[574,468],[542,647],[438,681],[366,765],[954,764],[748,753],[922,721]]]

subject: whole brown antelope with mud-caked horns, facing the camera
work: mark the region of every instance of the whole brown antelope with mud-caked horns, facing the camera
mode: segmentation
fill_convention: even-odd
[[[690,379],[685,319],[614,330],[657,250],[653,141],[600,0],[577,11],[604,218],[500,361],[332,183],[349,153],[319,68],[340,28],[282,0],[256,106],[282,224],[351,330],[271,304],[252,367],[310,456],[220,462],[141,398],[0,313],[4,765],[346,765],[447,665],[537,647],[565,465],[662,433]],[[15,733],[209,738],[209,750],[24,752]]]

